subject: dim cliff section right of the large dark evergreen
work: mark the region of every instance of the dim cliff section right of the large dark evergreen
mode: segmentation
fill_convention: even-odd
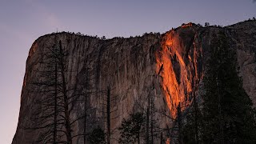
[[[237,50],[243,88],[256,106],[256,22],[239,22],[228,26],[231,46]]]

